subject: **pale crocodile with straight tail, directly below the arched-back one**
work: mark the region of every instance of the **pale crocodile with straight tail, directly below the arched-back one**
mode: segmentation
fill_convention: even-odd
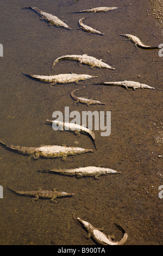
[[[86,74],[78,75],[78,74],[74,74],[74,73],[60,74],[60,75],[55,75],[55,76],[28,75],[28,74],[23,74],[23,75],[33,77],[42,82],[51,83],[51,86],[55,86],[55,84],[57,84],[57,83],[76,83],[77,84],[79,81],[98,77],[98,76],[91,76],[91,75],[86,75]]]

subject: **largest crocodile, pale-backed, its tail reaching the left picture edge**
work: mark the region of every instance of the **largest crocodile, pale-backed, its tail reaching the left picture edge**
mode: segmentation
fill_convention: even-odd
[[[47,159],[62,157],[62,161],[66,161],[67,156],[75,156],[78,154],[84,154],[93,151],[92,149],[83,149],[57,145],[41,145],[40,147],[22,147],[15,145],[6,145],[1,141],[0,143],[9,149],[18,151],[18,153],[21,153],[23,155],[29,155],[34,160],[39,159],[39,157]]]

